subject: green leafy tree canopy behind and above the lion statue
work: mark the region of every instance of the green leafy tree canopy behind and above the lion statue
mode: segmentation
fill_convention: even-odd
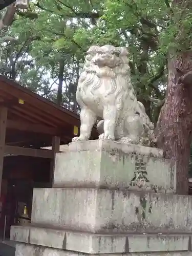
[[[90,45],[126,46],[138,98],[156,122],[165,97],[167,52],[191,48],[192,12],[184,9],[168,0],[33,1],[28,12],[17,12],[12,26],[1,32],[0,71],[54,101],[58,80],[63,80],[63,105],[73,109]],[[16,40],[5,44],[5,36]],[[11,74],[10,56],[15,59],[18,53],[17,72]]]

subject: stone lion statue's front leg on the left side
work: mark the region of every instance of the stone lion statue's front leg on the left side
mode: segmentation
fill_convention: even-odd
[[[73,142],[90,139],[93,125],[96,122],[96,115],[90,109],[83,107],[80,113],[80,120],[81,120],[80,136],[74,137],[72,139]]]

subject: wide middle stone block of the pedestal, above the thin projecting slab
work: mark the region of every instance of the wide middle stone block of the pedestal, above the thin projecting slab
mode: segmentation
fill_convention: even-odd
[[[94,188],[35,188],[32,223],[93,233],[191,232],[192,197]]]

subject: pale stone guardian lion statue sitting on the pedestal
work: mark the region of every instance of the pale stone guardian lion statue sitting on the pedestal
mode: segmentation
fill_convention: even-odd
[[[80,75],[76,99],[81,106],[80,136],[72,141],[89,140],[97,117],[99,139],[150,145],[154,125],[137,101],[130,78],[125,47],[92,46]]]

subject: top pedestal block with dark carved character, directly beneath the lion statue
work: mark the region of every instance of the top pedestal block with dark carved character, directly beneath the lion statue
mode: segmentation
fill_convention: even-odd
[[[70,143],[67,153],[56,154],[54,187],[174,193],[175,162],[162,156],[158,148],[114,141]]]

